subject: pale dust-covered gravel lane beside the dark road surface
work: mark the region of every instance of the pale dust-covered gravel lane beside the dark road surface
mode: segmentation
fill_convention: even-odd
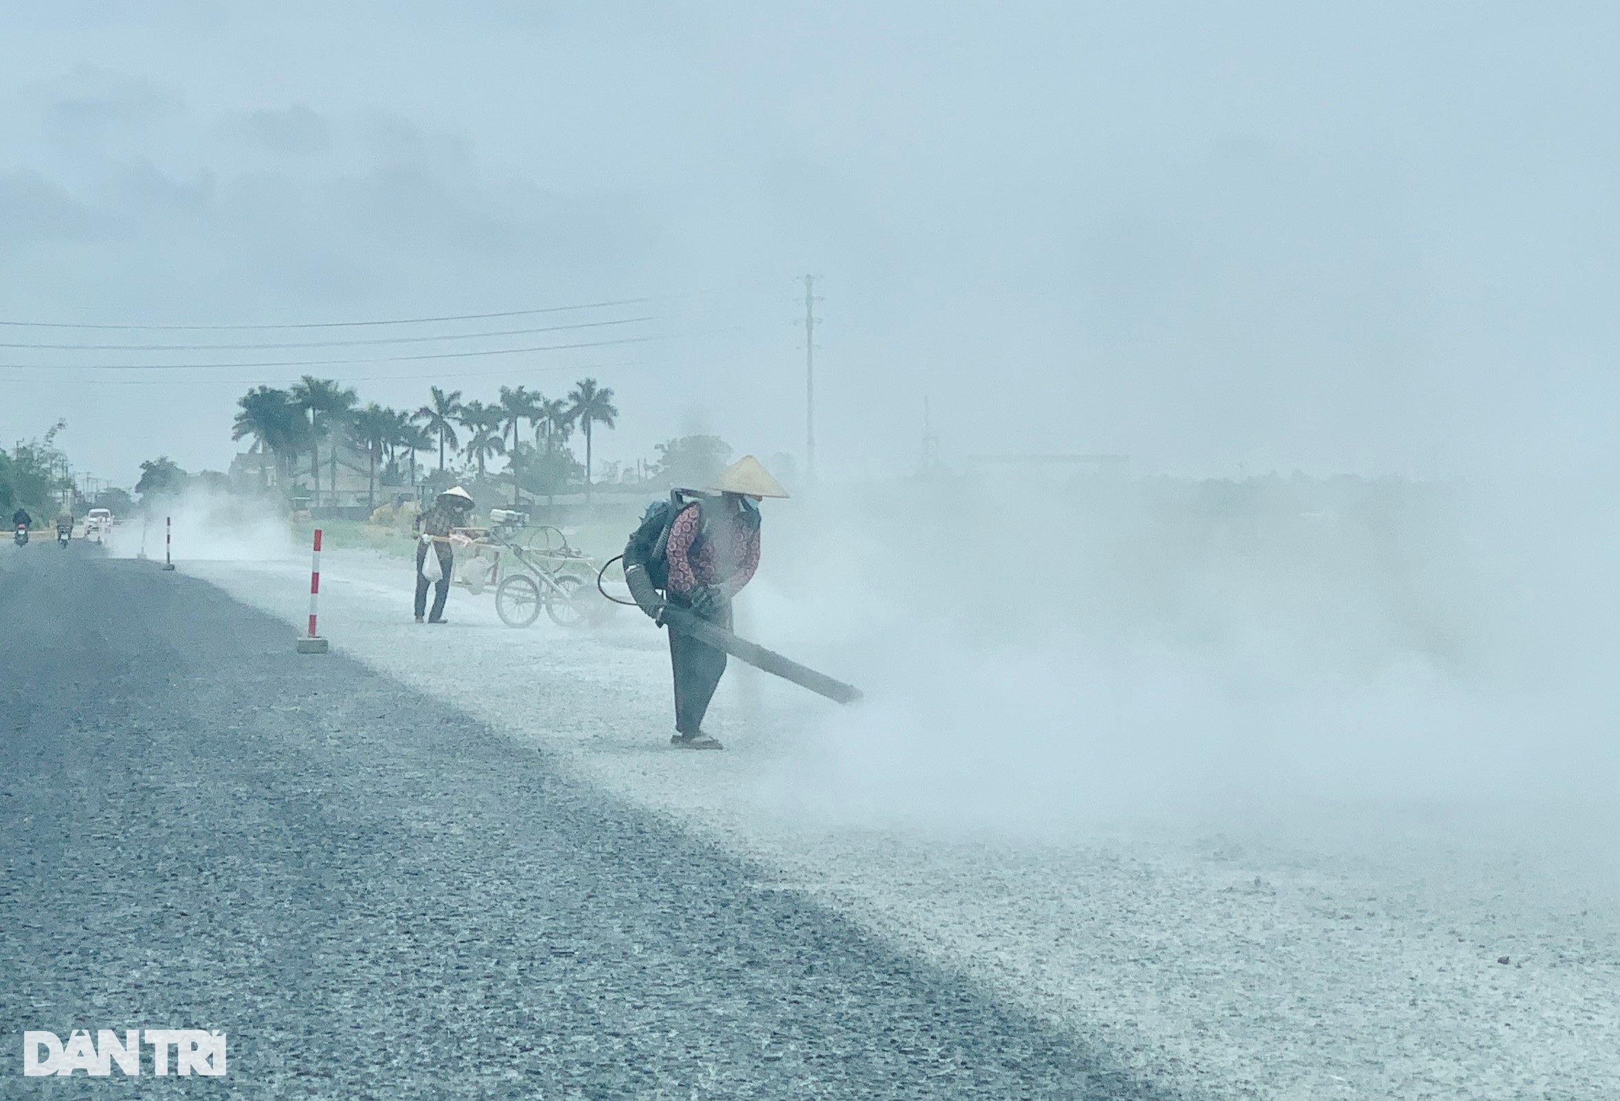
[[[917,795],[910,777],[930,761],[881,725],[904,699],[870,691],[839,709],[734,669],[711,712],[727,751],[671,753],[667,656],[637,614],[599,631],[544,617],[509,630],[488,594],[457,589],[452,623],[418,628],[408,565],[335,550],[322,567],[337,651],[768,869],[758,889],[815,899],[875,944],[969,976],[1162,1093],[1620,1098],[1612,806],[1307,805],[953,832],[948,800],[917,818],[888,798]],[[180,568],[284,623],[306,610],[303,555]],[[740,614],[771,599],[761,585]],[[791,627],[776,615],[761,641],[868,678]],[[841,806],[852,790],[870,808]]]

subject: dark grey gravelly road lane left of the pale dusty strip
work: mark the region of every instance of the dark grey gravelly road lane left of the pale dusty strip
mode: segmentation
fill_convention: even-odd
[[[6,1098],[1168,1096],[201,580],[28,547],[0,622]],[[26,1028],[230,1072],[24,1078]]]

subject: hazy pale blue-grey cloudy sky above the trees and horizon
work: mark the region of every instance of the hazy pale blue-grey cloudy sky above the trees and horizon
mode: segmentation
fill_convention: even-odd
[[[1610,461],[1617,23],[3,3],[0,321],[68,327],[0,325],[0,440],[65,416],[75,463],[128,484],[157,453],[224,466],[258,382],[415,408],[591,374],[622,410],[601,457],[695,429],[802,453],[810,272],[831,476],[915,466],[925,397],[948,461]],[[421,340],[475,332],[509,335]],[[361,338],[389,343],[332,343]],[[421,358],[501,348],[546,350]]]

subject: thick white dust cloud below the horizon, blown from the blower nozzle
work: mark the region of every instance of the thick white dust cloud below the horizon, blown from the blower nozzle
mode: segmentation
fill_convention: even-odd
[[[1589,512],[1563,497],[1082,476],[782,507],[755,619],[868,691],[782,789],[854,823],[1037,834],[1607,798],[1612,541],[1567,539]]]

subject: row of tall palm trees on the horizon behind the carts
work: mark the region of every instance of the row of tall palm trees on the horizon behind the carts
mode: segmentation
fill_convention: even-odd
[[[565,458],[569,437],[575,429],[585,436],[585,494],[591,492],[591,442],[595,427],[614,427],[619,410],[612,390],[582,379],[565,398],[548,398],[528,387],[501,387],[494,403],[476,398],[463,402],[460,390],[429,387],[429,402],[415,413],[392,410],[376,402],[364,406],[353,387],[334,379],[303,376],[288,389],[259,385],[237,400],[238,413],[230,437],[251,437],[259,452],[259,479],[269,484],[269,466],[275,463],[277,479],[296,476],[298,460],[309,458],[309,481],[321,494],[321,448],[327,457],[327,489],[335,500],[337,452],[347,444],[366,455],[368,499],[376,504],[377,463],[399,470],[403,455],[410,484],[416,484],[416,453],[439,452],[439,471],[447,455],[460,455],[476,466],[480,479],[488,463],[507,455],[512,465],[512,499],[517,502],[518,473],[544,460]],[[522,440],[523,423],[535,444]],[[460,431],[458,431],[460,429]],[[465,444],[462,431],[467,432]],[[577,463],[567,460],[577,470]],[[552,463],[556,466],[556,463]]]

